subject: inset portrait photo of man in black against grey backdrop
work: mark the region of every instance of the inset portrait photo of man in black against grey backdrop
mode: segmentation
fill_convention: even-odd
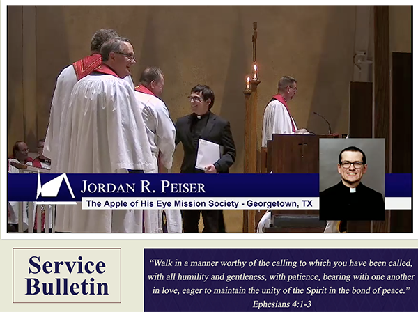
[[[385,220],[385,139],[320,139],[319,219]]]

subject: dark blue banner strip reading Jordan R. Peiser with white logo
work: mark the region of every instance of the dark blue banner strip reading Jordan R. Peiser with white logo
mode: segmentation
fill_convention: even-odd
[[[411,174],[387,174],[386,197],[411,197]],[[98,197],[319,196],[318,174],[11,174],[8,201]]]

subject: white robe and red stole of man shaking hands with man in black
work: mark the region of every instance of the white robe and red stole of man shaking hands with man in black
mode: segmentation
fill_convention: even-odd
[[[135,88],[135,96],[142,109],[142,116],[147,127],[148,141],[151,146],[156,169],[150,173],[158,173],[158,156],[166,169],[173,165],[173,153],[176,149],[176,127],[169,116],[169,110],[162,100],[157,98],[145,86]],[[167,232],[181,233],[182,220],[180,210],[165,210]],[[145,210],[144,226],[146,233],[162,233],[162,210]]]

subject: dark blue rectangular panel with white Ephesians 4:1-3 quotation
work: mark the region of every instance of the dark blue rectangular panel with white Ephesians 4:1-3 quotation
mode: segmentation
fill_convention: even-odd
[[[417,249],[145,249],[144,311],[417,311]]]

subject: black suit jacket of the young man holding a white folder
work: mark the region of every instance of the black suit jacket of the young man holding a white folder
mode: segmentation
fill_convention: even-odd
[[[178,118],[176,122],[176,145],[183,143],[184,158],[181,173],[200,173],[195,169],[197,148],[192,137],[192,115]],[[224,155],[215,163],[218,173],[229,173],[229,167],[235,162],[235,143],[233,142],[229,121],[209,111],[208,123],[202,131],[201,139],[224,146]]]

